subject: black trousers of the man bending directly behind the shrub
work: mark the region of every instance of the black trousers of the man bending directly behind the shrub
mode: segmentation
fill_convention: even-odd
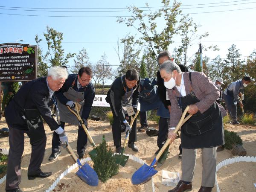
[[[119,119],[119,116],[115,115],[115,112],[113,110],[113,106],[110,105],[110,107],[111,107],[111,111],[113,113],[113,124],[112,124],[113,140],[114,140],[114,145],[116,147],[118,147],[118,146],[121,146],[121,129],[120,129],[121,121]],[[131,122],[131,117],[130,117],[130,120],[129,120],[129,124],[130,124],[130,122]],[[131,127],[131,133],[130,133],[130,136],[129,136],[128,143],[137,141],[137,133],[136,132],[137,131],[136,131],[136,120],[135,120],[134,124]]]

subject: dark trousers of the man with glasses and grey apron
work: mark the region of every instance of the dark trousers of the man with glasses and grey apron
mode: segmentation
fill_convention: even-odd
[[[63,129],[65,128],[65,122],[61,121],[60,125]],[[87,145],[87,134],[85,133],[84,129],[78,126],[78,137],[77,137],[77,144],[76,144],[76,151],[78,154],[84,153],[85,148]],[[61,142],[60,137],[58,134],[53,131],[52,135],[52,153],[56,153],[61,150]]]

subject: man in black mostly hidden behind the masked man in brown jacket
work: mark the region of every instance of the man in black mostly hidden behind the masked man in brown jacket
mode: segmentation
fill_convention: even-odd
[[[168,51],[162,51],[159,53],[157,56],[158,63],[161,65],[163,64],[164,61],[171,60],[172,57]],[[188,69],[184,65],[178,64],[180,67],[180,70],[182,72],[187,72]],[[160,71],[157,71],[157,85],[158,85],[158,90],[159,90],[159,95],[160,99],[163,102],[163,105],[165,108],[169,109],[169,113],[171,113],[171,102],[169,98],[167,98],[167,92],[166,92],[166,87],[164,86],[163,79],[161,78]],[[159,149],[155,152],[157,154],[160,149],[163,147],[163,142],[166,141],[167,134],[168,134],[168,124],[169,124],[169,118],[163,118],[160,116],[159,119],[159,131],[158,131],[158,137],[157,137],[157,145]],[[179,157],[181,158],[181,152],[182,152],[182,147],[180,144],[180,154]]]

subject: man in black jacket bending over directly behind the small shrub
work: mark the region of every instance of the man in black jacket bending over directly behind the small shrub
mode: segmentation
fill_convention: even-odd
[[[121,128],[120,123],[125,124],[125,132],[131,131],[130,137],[128,140],[128,147],[133,151],[139,151],[135,145],[137,141],[137,130],[136,130],[136,121],[132,128],[129,123],[131,118],[127,111],[134,110],[134,113],[137,112],[137,105],[139,102],[139,87],[140,87],[140,76],[137,70],[130,69],[125,73],[125,76],[118,77],[112,83],[106,101],[110,104],[111,111],[113,113],[113,125],[112,125],[112,134],[114,145],[116,146],[116,153],[121,153]]]

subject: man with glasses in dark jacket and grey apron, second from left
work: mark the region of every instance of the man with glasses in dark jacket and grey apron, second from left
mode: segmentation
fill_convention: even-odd
[[[87,145],[87,134],[79,125],[77,117],[67,108],[75,107],[75,102],[81,105],[80,116],[87,126],[87,119],[89,117],[93,99],[95,96],[95,89],[91,83],[92,70],[89,67],[82,67],[78,74],[70,74],[63,87],[55,93],[58,100],[57,111],[59,111],[60,125],[64,129],[65,123],[71,125],[78,125],[78,137],[76,151],[81,159],[84,156],[84,151]],[[49,161],[55,160],[61,154],[61,146],[58,134],[53,133],[52,136],[52,154],[49,156]]]

